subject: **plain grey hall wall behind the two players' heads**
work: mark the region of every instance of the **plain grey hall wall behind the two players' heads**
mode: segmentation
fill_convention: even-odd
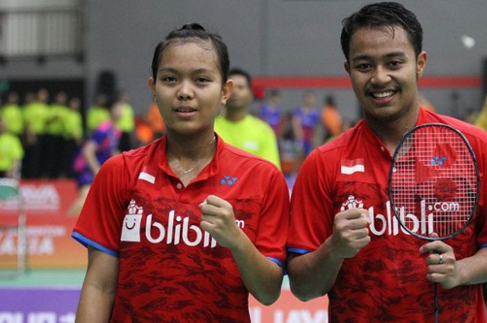
[[[17,61],[0,65],[0,78],[86,79],[86,100],[93,96],[102,70],[115,73],[119,88],[129,91],[136,113],[150,104],[147,77],[152,51],[168,31],[186,22],[200,22],[223,35],[233,66],[254,76],[346,76],[340,49],[341,21],[365,3],[362,0],[104,0],[83,1],[85,61],[69,58],[47,60],[44,65]],[[440,113],[463,115],[482,101],[482,61],[487,56],[485,0],[404,0],[424,28],[428,53],[426,74],[436,80],[422,92]],[[461,35],[476,40],[471,49]],[[438,86],[458,76],[469,85]],[[304,89],[283,88],[283,106],[291,109],[301,101]],[[319,103],[332,92],[342,114],[359,116],[349,87],[315,88]]]

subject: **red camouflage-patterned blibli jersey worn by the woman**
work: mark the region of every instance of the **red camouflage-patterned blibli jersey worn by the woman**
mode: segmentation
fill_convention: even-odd
[[[272,163],[218,138],[211,163],[184,187],[164,137],[102,166],[72,235],[119,257],[111,322],[250,322],[232,254],[200,227],[209,194],[230,202],[257,249],[283,265],[289,191]]]

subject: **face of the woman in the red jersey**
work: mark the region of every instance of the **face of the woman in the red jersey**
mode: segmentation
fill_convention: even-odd
[[[210,42],[179,42],[164,49],[157,79],[149,78],[168,132],[213,132],[214,119],[232,91],[222,85],[217,55]]]

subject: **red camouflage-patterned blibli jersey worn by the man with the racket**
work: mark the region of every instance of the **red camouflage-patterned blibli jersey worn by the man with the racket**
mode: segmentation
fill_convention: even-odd
[[[446,240],[457,259],[487,247],[487,133],[457,119],[420,109],[417,124],[440,122],[454,126],[468,139],[481,173],[481,197],[472,223]],[[336,213],[365,208],[372,224],[372,241],[345,259],[328,292],[329,322],[434,322],[433,283],[426,280],[426,241],[408,235],[390,208],[388,172],[392,157],[362,120],[305,160],[292,193],[289,252],[316,250],[333,231]],[[326,271],[324,270],[324,274]],[[440,286],[440,322],[485,323],[482,285],[450,290]]]

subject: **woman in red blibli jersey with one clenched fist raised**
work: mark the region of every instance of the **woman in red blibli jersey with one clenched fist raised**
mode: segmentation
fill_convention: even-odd
[[[229,65],[199,24],[156,47],[149,87],[167,134],[93,182],[73,232],[88,246],[77,322],[250,322],[248,292],[280,295],[289,194],[277,167],[214,133]]]

